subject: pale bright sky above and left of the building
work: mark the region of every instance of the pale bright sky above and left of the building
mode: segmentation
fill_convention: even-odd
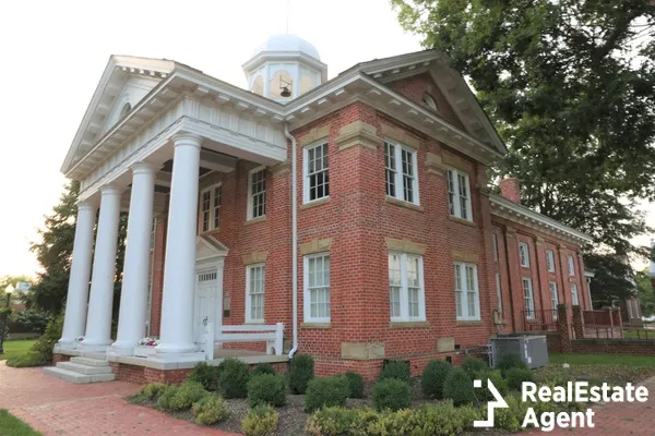
[[[245,87],[241,64],[287,17],[330,77],[421,49],[389,0],[1,2],[0,276],[38,270],[29,243],[63,191],[59,169],[110,55],[172,59]]]

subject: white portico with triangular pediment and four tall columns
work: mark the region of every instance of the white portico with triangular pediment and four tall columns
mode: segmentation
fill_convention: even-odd
[[[146,332],[151,229],[153,216],[162,213],[168,231],[160,338],[147,360],[196,362],[212,359],[215,342],[221,347],[228,247],[198,234],[199,180],[230,173],[237,161],[275,166],[286,160],[287,150],[281,105],[263,98],[255,105],[257,96],[211,82],[169,61],[110,60],[94,96],[96,106],[90,107],[64,162],[67,174],[81,180],[81,193],[58,352],[133,355]],[[151,87],[147,95],[130,97],[143,92],[144,84]],[[104,102],[108,100],[122,107]],[[121,210],[128,213],[128,235],[112,338]],[[214,329],[199,331],[199,325]],[[282,354],[281,347],[275,352]]]

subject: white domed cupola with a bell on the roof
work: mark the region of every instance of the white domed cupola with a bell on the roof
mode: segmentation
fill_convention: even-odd
[[[248,89],[287,102],[327,80],[319,50],[296,35],[274,35],[243,65]]]

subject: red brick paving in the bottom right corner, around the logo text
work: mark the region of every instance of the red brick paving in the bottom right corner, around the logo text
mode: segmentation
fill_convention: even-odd
[[[594,428],[560,428],[553,429],[550,435],[579,435],[579,436],[616,436],[616,435],[654,435],[655,434],[655,377],[642,383],[648,389],[648,401],[598,404],[594,410]],[[532,431],[529,434],[545,434],[541,431]]]

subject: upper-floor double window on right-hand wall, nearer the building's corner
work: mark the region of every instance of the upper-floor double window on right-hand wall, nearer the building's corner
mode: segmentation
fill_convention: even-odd
[[[418,204],[417,168],[415,149],[390,140],[384,141],[386,195]]]

